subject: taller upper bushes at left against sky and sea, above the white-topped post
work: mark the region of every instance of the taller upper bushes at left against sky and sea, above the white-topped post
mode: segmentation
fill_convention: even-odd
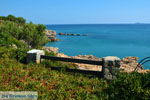
[[[22,17],[12,15],[1,16],[0,20],[0,45],[37,48],[47,42],[46,27],[42,24],[25,23]]]

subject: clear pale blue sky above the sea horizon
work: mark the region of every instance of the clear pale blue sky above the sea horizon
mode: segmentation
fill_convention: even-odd
[[[37,24],[150,23],[150,0],[0,0],[0,16]]]

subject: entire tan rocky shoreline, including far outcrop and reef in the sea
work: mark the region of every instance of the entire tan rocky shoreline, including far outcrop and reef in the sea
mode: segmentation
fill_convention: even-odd
[[[45,31],[46,36],[49,38],[49,42],[58,42],[59,39],[57,39],[57,33],[55,30],[46,30]],[[65,33],[59,33],[58,35],[71,35],[71,34],[65,34]],[[72,34],[73,35],[73,34]],[[69,58],[77,58],[77,59],[88,59],[88,60],[98,60],[101,59],[99,57],[93,56],[93,55],[76,55],[76,56],[68,56],[64,53],[59,52],[59,48],[57,47],[50,47],[50,46],[44,46],[43,47],[48,52],[54,52],[56,56],[58,57],[69,57]],[[136,56],[126,56],[122,57],[121,59],[121,66],[120,68],[125,72],[133,72],[134,69],[137,67],[138,59],[139,57]],[[77,68],[81,70],[96,70],[101,71],[102,68],[100,66],[96,65],[89,65],[89,64],[77,64]],[[139,66],[140,67],[140,66]],[[141,65],[141,68],[138,68],[141,73],[150,72],[150,69],[144,69]]]

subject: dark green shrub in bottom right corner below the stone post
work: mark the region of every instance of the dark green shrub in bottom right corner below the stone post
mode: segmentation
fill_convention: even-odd
[[[149,100],[150,73],[120,73],[107,92],[111,100]]]

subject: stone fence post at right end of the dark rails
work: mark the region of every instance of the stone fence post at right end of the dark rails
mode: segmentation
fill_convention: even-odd
[[[108,56],[103,58],[102,77],[108,80],[116,79],[120,67],[120,58]]]

